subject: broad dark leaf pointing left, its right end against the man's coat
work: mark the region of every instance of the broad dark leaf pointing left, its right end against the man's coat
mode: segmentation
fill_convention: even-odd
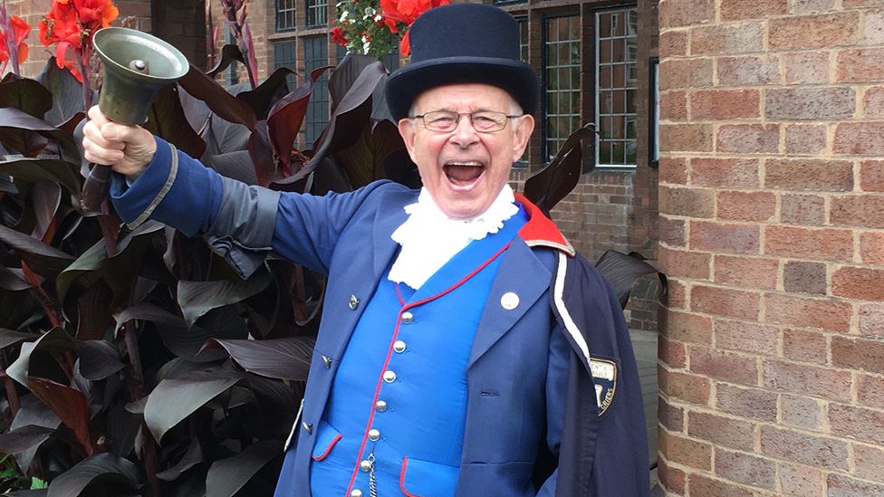
[[[207,347],[223,347],[237,364],[250,373],[267,378],[303,381],[310,371],[316,340],[312,337],[265,340],[213,339]],[[216,345],[214,345],[216,344]]]

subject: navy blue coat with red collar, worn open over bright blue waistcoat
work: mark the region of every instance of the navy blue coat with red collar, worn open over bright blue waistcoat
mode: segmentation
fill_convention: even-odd
[[[115,178],[112,195],[124,220],[149,212],[186,234],[204,234],[243,273],[260,263],[255,254],[273,251],[329,275],[303,413],[289,448],[294,455],[279,483],[284,495],[309,496],[313,428],[329,399],[335,359],[365,307],[351,301],[371,298],[398,246],[390,234],[418,192],[376,182],[340,195],[279,194],[221,178],[158,143],[157,158],[128,190]],[[622,313],[607,282],[574,258],[552,222],[520,202],[530,220],[503,255],[467,362],[456,495],[646,496],[644,411]],[[581,269],[576,285],[565,277],[575,261]],[[574,292],[563,295],[560,288],[557,298],[556,281]],[[519,297],[514,309],[501,303],[508,292]],[[588,403],[593,389],[595,401]],[[562,447],[567,457],[558,458]],[[559,487],[568,490],[556,492],[560,472],[568,481]],[[409,492],[421,495],[419,486]]]

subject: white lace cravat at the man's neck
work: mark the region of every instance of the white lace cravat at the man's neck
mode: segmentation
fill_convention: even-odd
[[[390,235],[402,250],[389,270],[389,280],[417,290],[467,244],[497,233],[519,207],[513,188],[504,185],[481,215],[466,221],[450,219],[439,210],[427,189],[421,188],[418,202],[406,205],[405,212],[408,219]]]

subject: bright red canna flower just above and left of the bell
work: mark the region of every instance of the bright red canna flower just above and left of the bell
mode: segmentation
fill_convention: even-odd
[[[92,35],[120,15],[111,0],[54,0],[49,14],[40,21],[40,43],[55,43],[55,63],[68,68],[77,81],[82,81],[77,58],[88,63]],[[69,51],[72,58],[68,58]],[[85,56],[84,56],[85,53]]]

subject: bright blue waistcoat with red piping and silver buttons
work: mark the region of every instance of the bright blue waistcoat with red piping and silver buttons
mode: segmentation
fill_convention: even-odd
[[[455,494],[466,364],[499,255],[526,219],[520,210],[497,234],[467,245],[418,291],[385,273],[317,427],[313,495],[368,497],[371,474],[382,496]]]

